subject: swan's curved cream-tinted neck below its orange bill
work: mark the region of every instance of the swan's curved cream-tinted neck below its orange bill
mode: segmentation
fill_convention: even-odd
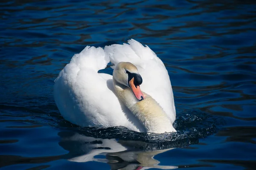
[[[164,133],[175,132],[163,108],[148,94],[143,93],[145,99],[139,101],[130,88],[121,85],[113,79],[114,89],[124,105],[140,120],[147,132]]]

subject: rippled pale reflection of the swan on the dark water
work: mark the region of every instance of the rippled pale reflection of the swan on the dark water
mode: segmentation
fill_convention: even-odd
[[[59,133],[61,147],[68,150],[69,161],[99,161],[110,164],[112,170],[145,170],[149,168],[175,169],[175,166],[160,166],[154,156],[166,150],[140,150],[146,145],[138,141],[116,141],[115,139],[96,139],[78,133]],[[103,155],[105,158],[95,158]]]

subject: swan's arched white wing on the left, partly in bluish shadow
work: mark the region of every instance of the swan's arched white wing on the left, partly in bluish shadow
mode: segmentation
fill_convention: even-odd
[[[108,62],[102,48],[87,46],[75,54],[55,79],[56,105],[64,119],[79,126],[125,126],[139,131],[142,125],[128,109],[122,110],[113,93],[112,76],[98,74]]]

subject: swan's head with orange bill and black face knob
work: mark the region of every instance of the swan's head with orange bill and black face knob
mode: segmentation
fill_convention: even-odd
[[[140,76],[137,67],[131,62],[119,62],[113,71],[113,79],[116,80],[116,82],[131,88],[138,100],[141,101],[145,99],[140,91],[142,77]]]

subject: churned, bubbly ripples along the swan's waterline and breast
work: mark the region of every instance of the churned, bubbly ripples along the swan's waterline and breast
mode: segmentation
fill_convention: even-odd
[[[70,123],[66,123],[65,126]],[[190,144],[198,144],[199,139],[216,133],[224,125],[224,120],[218,116],[212,116],[199,111],[183,113],[177,117],[174,127],[175,133],[139,133],[128,130],[126,127],[71,127],[68,131],[79,133],[83,136],[99,139],[117,139],[127,141],[145,142],[143,149],[159,150],[172,147],[186,147]],[[65,131],[65,127],[61,127]],[[67,131],[66,131],[67,132]]]

